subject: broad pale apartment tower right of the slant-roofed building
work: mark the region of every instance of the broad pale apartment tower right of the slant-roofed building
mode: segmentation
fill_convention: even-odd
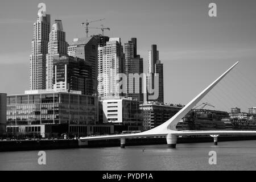
[[[119,73],[124,73],[124,55],[121,38],[110,38],[106,46],[98,48],[98,95],[123,96],[119,93]]]

